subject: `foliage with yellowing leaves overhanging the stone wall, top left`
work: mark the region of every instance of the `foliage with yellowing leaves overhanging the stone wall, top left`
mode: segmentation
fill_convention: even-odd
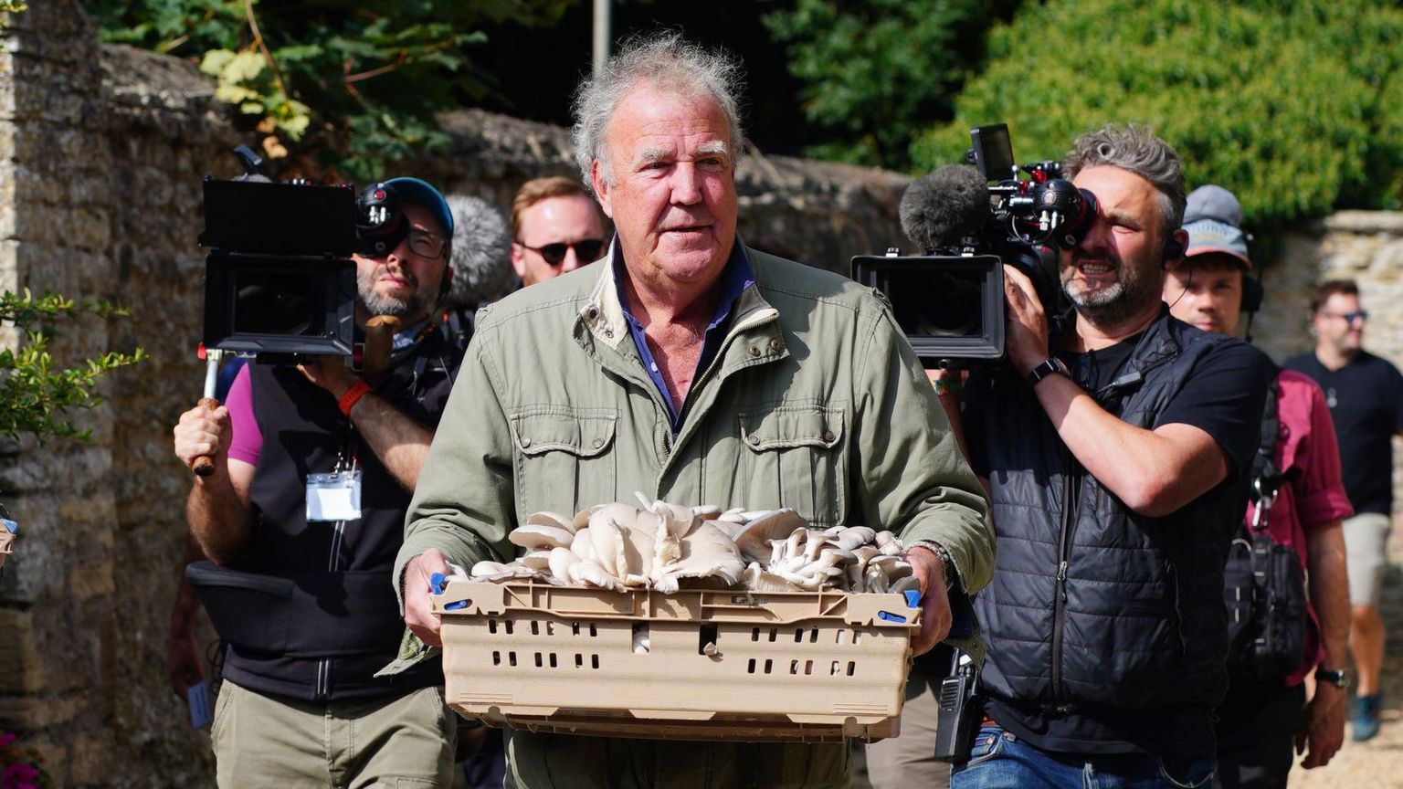
[[[484,25],[546,24],[570,0],[87,0],[102,38],[199,63],[264,153],[316,150],[333,175],[448,142],[434,119],[494,83],[469,48]]]

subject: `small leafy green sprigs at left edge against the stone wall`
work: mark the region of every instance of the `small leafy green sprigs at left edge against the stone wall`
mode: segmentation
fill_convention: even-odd
[[[132,354],[108,352],[83,359],[79,366],[65,368],[49,354],[49,338],[55,334],[56,319],[76,319],[80,314],[97,317],[125,316],[126,310],[108,302],[76,303],[55,293],[34,298],[0,292],[0,326],[11,324],[24,333],[18,351],[0,350],[0,437],[15,438],[28,432],[45,441],[48,437],[90,438],[63,418],[69,409],[91,409],[102,403],[93,393],[98,379],[119,366],[146,359],[137,348]]]

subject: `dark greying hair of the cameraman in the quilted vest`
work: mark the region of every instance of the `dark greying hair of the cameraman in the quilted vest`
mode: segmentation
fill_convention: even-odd
[[[1107,124],[1076,138],[1063,170],[1068,178],[1075,178],[1082,170],[1100,166],[1128,170],[1153,184],[1159,191],[1164,239],[1179,230],[1188,198],[1184,194],[1184,166],[1173,146],[1149,128]]]

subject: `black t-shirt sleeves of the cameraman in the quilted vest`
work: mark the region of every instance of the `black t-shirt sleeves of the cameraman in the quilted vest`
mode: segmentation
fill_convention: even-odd
[[[1104,390],[1121,375],[1141,337],[1085,354],[1059,351],[1058,358],[1082,389],[1104,404]],[[1261,441],[1260,407],[1253,413],[1261,397],[1253,387],[1261,380],[1263,364],[1261,354],[1244,343],[1226,343],[1205,354],[1153,427],[1194,425],[1222,446],[1235,470],[1250,466]]]

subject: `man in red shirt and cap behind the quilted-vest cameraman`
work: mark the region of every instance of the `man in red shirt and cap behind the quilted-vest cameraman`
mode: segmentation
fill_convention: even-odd
[[[1261,306],[1261,284],[1249,275],[1251,260],[1240,225],[1242,206],[1228,190],[1207,185],[1188,195],[1188,251],[1164,281],[1164,300],[1174,317],[1204,331],[1232,334],[1243,312]],[[1229,660],[1228,698],[1216,726],[1222,786],[1285,786],[1292,741],[1298,750],[1309,744],[1306,768],[1329,762],[1344,741],[1350,594],[1341,518],[1354,510],[1340,477],[1340,449],[1324,392],[1295,371],[1280,371],[1270,389],[1263,437],[1275,438],[1270,448],[1263,438],[1253,468],[1261,496],[1244,522],[1264,525],[1271,541],[1289,546],[1301,569],[1309,571],[1309,605],[1303,573],[1292,578],[1295,588],[1284,591],[1302,602],[1310,626],[1306,616],[1295,621],[1303,653],[1295,665],[1264,675],[1254,665]],[[1256,614],[1260,616],[1260,609]],[[1305,678],[1317,664],[1316,692],[1306,705]]]

